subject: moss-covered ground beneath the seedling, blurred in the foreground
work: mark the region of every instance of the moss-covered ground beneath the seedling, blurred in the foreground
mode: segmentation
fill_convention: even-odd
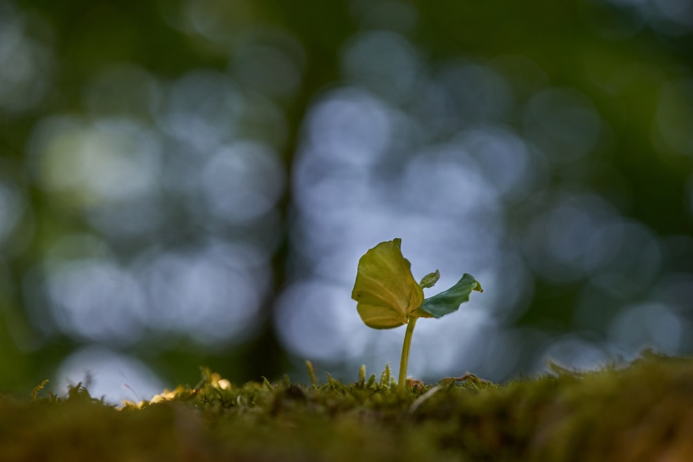
[[[0,398],[0,461],[693,460],[693,359],[555,372],[406,392],[385,374],[234,386],[205,372],[199,387],[122,409],[81,386]]]

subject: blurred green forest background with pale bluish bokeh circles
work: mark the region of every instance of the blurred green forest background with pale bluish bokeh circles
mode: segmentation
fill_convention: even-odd
[[[692,0],[0,0],[0,391],[396,374],[392,238],[485,290],[419,379],[691,353],[692,51]]]

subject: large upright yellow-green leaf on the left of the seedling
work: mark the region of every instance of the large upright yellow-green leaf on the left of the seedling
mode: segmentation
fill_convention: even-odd
[[[371,328],[403,326],[423,303],[423,290],[412,276],[411,263],[402,256],[401,243],[401,239],[380,242],[358,260],[351,298]]]

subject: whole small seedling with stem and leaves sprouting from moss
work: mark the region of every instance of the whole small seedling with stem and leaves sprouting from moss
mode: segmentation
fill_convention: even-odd
[[[465,273],[450,289],[424,299],[423,289],[433,287],[440,273],[436,270],[427,274],[417,284],[412,276],[412,264],[402,255],[401,243],[398,238],[380,242],[358,260],[351,298],[356,300],[356,309],[366,326],[392,329],[407,325],[397,382],[398,389],[405,389],[416,320],[450,314],[469,301],[473,290],[483,290],[474,276]]]

